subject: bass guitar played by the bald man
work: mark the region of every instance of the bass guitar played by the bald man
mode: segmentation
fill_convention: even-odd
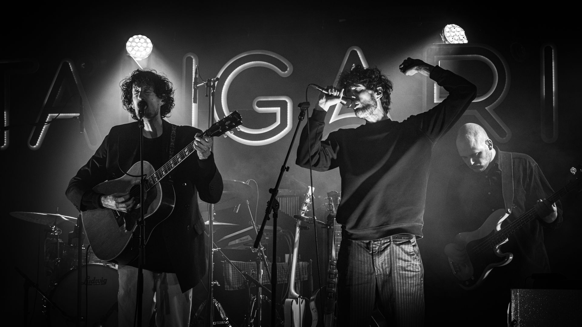
[[[580,172],[582,165],[570,168],[570,172],[575,174]],[[575,176],[565,187],[556,191],[547,198],[550,203],[560,200],[572,190],[580,188],[580,174]],[[531,208],[523,215],[513,219],[507,226],[501,228],[501,223],[508,218],[505,209],[494,211],[481,227],[473,232],[459,233],[455,236],[453,243],[445,247],[445,254],[449,259],[450,268],[453,275],[459,279],[459,285],[466,290],[476,289],[487,278],[489,272],[498,266],[509,264],[513,259],[512,253],[501,253],[499,248],[509,240],[514,232],[519,230],[526,223],[537,218],[535,208]],[[459,259],[457,253],[459,246],[464,247],[464,255]],[[451,257],[456,258],[453,260]]]

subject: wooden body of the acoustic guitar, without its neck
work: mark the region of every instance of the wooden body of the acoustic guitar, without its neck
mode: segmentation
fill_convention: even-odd
[[[154,173],[154,167],[144,161],[145,178]],[[145,240],[147,242],[152,230],[168,218],[175,204],[173,186],[156,183],[149,190],[144,187],[145,199],[139,201],[141,163],[136,162],[123,177],[108,180],[93,188],[97,193],[130,193],[144,205]],[[91,209],[83,212],[83,228],[95,256],[103,261],[127,264],[139,254],[139,244],[133,244],[132,235],[136,222],[140,218],[140,208],[130,212],[121,212],[109,208]]]

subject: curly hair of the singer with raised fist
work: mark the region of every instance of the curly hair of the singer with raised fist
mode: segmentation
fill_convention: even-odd
[[[368,90],[376,91],[382,88],[382,98],[380,102],[386,113],[390,111],[390,94],[392,93],[392,81],[380,72],[377,67],[365,68],[361,65],[354,65],[352,70],[343,72],[339,76],[339,88],[346,88],[355,84],[362,84]]]

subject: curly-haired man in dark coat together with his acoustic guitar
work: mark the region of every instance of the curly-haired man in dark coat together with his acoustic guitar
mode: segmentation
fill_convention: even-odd
[[[143,204],[143,326],[149,324],[155,305],[157,326],[185,327],[192,287],[206,271],[204,221],[197,198],[216,203],[223,189],[212,137],[162,119],[172,111],[174,91],[155,70],[135,70],[121,88],[124,108],[135,120],[143,116],[144,201],[139,200],[139,122],[112,127],[70,180],[66,196],[83,212],[95,255],[119,264],[119,326],[134,326],[136,317],[139,260],[132,234],[139,230],[136,220]]]

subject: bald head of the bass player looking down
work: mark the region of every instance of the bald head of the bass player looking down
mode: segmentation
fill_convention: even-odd
[[[468,123],[457,133],[460,157],[474,172],[483,172],[495,158],[493,142],[480,125]]]

